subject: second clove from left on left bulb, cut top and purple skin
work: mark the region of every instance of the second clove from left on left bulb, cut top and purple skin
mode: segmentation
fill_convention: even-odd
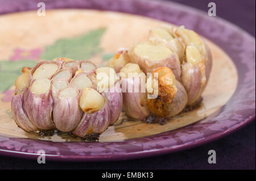
[[[54,128],[52,123],[53,99],[49,79],[36,79],[23,93],[24,111],[28,119],[37,128],[48,130]]]

